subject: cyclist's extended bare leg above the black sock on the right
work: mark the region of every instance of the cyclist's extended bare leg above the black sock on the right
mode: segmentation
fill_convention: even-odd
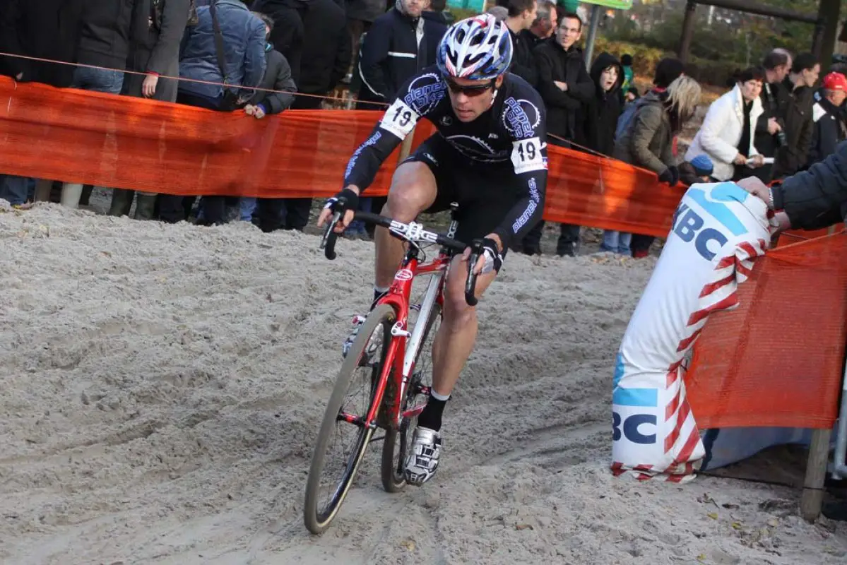
[[[495,271],[491,271],[477,277],[475,294],[478,298],[495,276]],[[451,395],[476,342],[476,307],[465,302],[467,278],[468,263],[461,257],[454,258],[444,289],[444,317],[432,347],[433,389],[439,396]]]

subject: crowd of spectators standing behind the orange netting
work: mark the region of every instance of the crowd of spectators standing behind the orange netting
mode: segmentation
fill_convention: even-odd
[[[254,119],[289,108],[322,108],[338,86],[358,109],[381,111],[401,84],[435,63],[452,15],[446,0],[6,0],[0,52],[91,66],[0,57],[0,73],[114,95],[155,98]],[[838,67],[818,85],[808,53],[774,49],[739,71],[713,102],[688,151],[677,139],[700,104],[700,85],[678,59],[663,59],[639,92],[633,58],[599,53],[585,60],[584,20],[554,0],[496,0],[514,45],[512,73],[539,91],[549,142],[617,158],[656,173],[661,183],[770,182],[805,170],[847,138],[847,78]],[[45,14],[56,14],[46,17]],[[179,76],[174,80],[167,77]],[[226,86],[220,86],[225,84]],[[262,90],[255,90],[257,87]],[[268,90],[270,92],[268,92]],[[0,175],[0,197],[23,203],[40,183]],[[91,186],[64,183],[58,199],[86,204]],[[114,188],[109,213],[136,219],[221,224],[252,221],[264,231],[302,230],[309,198],[176,197]],[[379,210],[383,198],[363,198]],[[541,250],[545,223],[520,252]],[[361,224],[346,235],[372,237]],[[606,231],[601,249],[646,255],[652,238]],[[558,255],[579,252],[580,226],[563,224]]]

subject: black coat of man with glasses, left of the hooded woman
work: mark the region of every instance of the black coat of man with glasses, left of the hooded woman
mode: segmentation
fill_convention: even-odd
[[[585,107],[594,99],[595,86],[585,70],[582,50],[571,47],[566,52],[556,42],[544,42],[533,53],[539,73],[536,89],[547,107],[547,133],[586,145]],[[567,92],[555,81],[567,83]]]

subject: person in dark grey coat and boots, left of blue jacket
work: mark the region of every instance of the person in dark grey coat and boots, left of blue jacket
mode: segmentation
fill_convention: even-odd
[[[138,41],[130,46],[127,69],[147,73],[126,75],[123,92],[133,97],[147,97],[163,102],[176,102],[177,81],[161,79],[160,75],[178,76],[180,73],[180,42],[188,24],[189,14],[197,17],[191,9],[191,0],[149,0],[137,3],[133,18],[146,22],[146,33],[140,33]],[[116,188],[112,191],[109,214],[125,216],[132,208],[135,191]],[[136,219],[152,219],[157,195],[139,192],[136,202]]]

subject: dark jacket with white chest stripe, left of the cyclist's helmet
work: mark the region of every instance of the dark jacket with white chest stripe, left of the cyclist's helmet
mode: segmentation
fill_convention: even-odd
[[[418,25],[423,37],[418,45]],[[361,102],[390,102],[413,75],[435,64],[435,51],[446,25],[431,19],[412,19],[391,8],[374,20],[362,42],[357,72]]]

